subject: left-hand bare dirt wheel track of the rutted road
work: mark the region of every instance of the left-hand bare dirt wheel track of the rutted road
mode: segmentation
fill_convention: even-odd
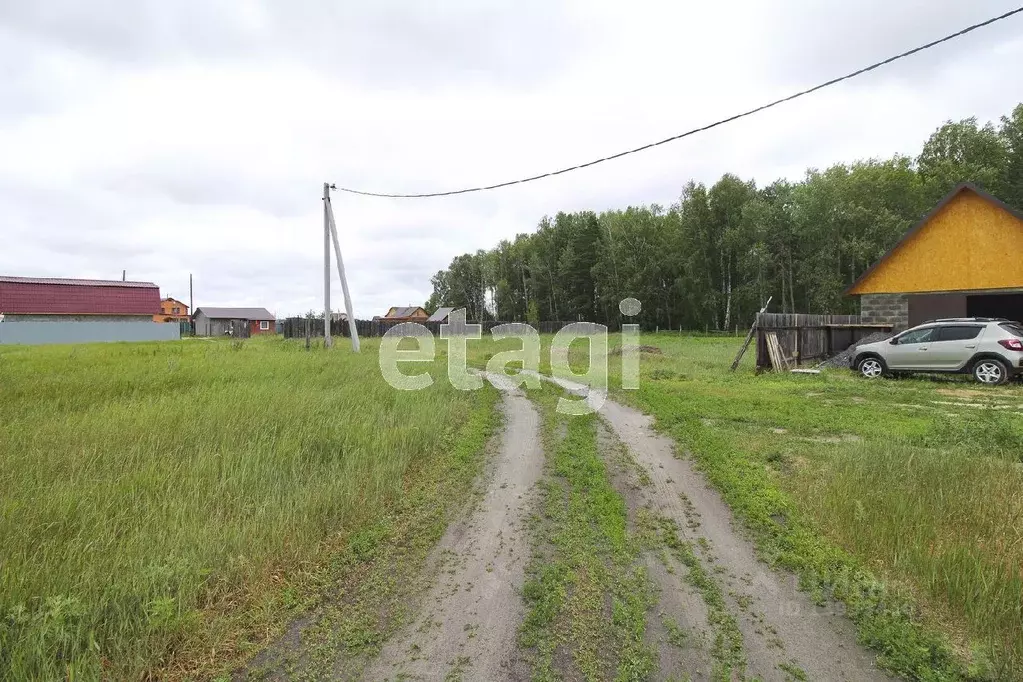
[[[530,553],[526,522],[543,473],[540,421],[509,380],[491,380],[502,392],[504,429],[482,503],[447,530],[437,549],[449,564],[421,612],[384,645],[363,679],[529,678],[518,632]]]

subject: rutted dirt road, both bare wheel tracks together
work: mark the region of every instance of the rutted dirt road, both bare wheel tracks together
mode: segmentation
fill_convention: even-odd
[[[545,471],[557,474],[544,466],[534,403],[507,379],[493,381],[502,391],[504,428],[482,478],[485,493],[435,548],[434,569],[421,576],[425,592],[409,602],[409,625],[390,636],[365,667],[342,662],[309,679],[532,679],[535,658],[519,646],[525,571],[536,549],[526,525],[539,511],[537,484]],[[570,381],[555,382],[579,396],[587,393]],[[641,547],[636,556],[654,595],[640,633],[651,661],[643,678],[889,679],[875,655],[856,643],[847,619],[814,606],[791,575],[757,559],[728,506],[690,460],[676,456],[674,443],[657,434],[649,417],[613,401],[605,402],[599,416],[596,452],[625,502],[628,533]],[[607,594],[598,597],[610,604]],[[608,608],[605,618],[612,618]],[[575,636],[584,641],[586,633]],[[581,679],[572,646],[557,644],[548,677]],[[291,678],[282,672],[277,679]]]

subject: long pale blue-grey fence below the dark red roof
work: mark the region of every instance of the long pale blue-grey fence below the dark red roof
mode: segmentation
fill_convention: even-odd
[[[140,321],[38,321],[13,320],[0,322],[0,344],[93,344],[100,342],[178,340],[181,326],[177,322]]]

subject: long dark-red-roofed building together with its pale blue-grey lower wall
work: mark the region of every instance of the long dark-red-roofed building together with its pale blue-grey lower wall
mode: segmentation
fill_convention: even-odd
[[[152,282],[0,275],[0,344],[179,338],[153,322],[160,305]]]

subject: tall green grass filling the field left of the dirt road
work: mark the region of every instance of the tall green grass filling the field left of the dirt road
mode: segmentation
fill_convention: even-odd
[[[473,396],[366,347],[0,351],[0,675],[138,678],[379,514]]]

